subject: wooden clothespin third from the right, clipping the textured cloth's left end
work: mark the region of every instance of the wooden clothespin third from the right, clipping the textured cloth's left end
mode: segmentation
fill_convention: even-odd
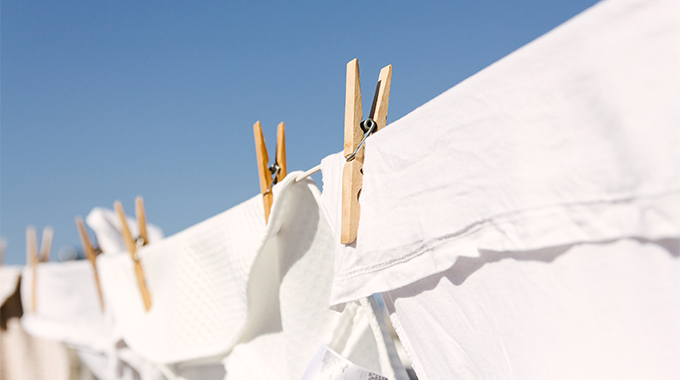
[[[130,252],[130,256],[135,262],[135,275],[137,276],[137,285],[139,286],[139,291],[142,294],[142,300],[144,301],[144,308],[146,311],[149,311],[149,309],[151,309],[151,293],[146,286],[142,262],[137,256],[137,249],[149,243],[148,237],[146,235],[146,214],[144,212],[144,200],[142,197],[137,197],[135,200],[135,206],[140,236],[137,239],[132,239],[132,234],[130,233],[130,228],[128,228],[127,219],[125,218],[123,205],[120,203],[120,201],[116,201],[113,204],[113,207],[116,209],[118,217],[120,218],[121,232],[123,235],[123,241],[125,242],[125,248],[128,252]]]

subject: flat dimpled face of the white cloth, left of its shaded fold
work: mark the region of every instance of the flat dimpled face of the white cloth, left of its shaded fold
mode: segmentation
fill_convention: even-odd
[[[125,342],[157,363],[226,354],[248,319],[246,285],[264,234],[260,195],[142,247],[148,312],[130,255],[100,255],[102,290]]]

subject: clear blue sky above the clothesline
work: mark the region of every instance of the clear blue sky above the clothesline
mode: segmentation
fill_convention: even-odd
[[[0,235],[80,248],[74,217],[144,196],[166,235],[259,192],[252,125],[289,171],[342,149],[345,65],[388,123],[583,11],[544,1],[19,1],[0,20]],[[315,177],[316,178],[316,177]],[[318,178],[317,182],[318,182]]]

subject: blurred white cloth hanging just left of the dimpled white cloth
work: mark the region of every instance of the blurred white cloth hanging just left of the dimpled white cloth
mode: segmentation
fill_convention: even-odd
[[[21,324],[27,333],[73,347],[100,380],[165,379],[120,341],[112,316],[101,309],[90,262],[41,263],[36,271],[35,313],[31,268],[26,267],[22,275]]]

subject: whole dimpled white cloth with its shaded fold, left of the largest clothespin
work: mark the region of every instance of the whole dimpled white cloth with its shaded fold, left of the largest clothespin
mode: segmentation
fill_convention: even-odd
[[[103,291],[130,348],[166,364],[168,377],[189,378],[193,369],[192,378],[222,379],[224,367],[216,373],[206,366],[222,366],[231,352],[227,379],[298,379],[325,343],[393,378],[370,308],[328,310],[332,241],[318,189],[311,180],[295,182],[297,174],[274,186],[268,224],[258,195],[139,249],[153,299],[148,312],[130,256],[98,258]]]

